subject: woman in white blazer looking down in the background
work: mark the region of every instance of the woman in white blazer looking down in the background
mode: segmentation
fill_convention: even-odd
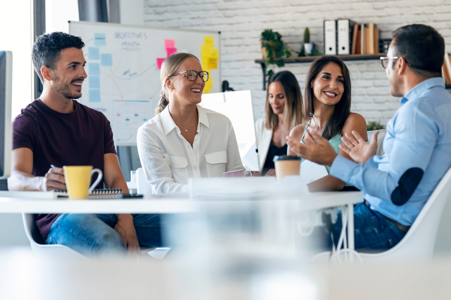
[[[287,154],[286,136],[302,123],[302,95],[293,73],[277,72],[268,83],[266,116],[255,122],[262,176],[274,176],[273,157]]]

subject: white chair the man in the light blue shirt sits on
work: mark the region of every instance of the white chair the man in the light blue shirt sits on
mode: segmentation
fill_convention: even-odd
[[[359,253],[362,260],[364,262],[430,260],[442,211],[450,194],[451,168],[437,184],[405,237],[390,250],[374,254]]]

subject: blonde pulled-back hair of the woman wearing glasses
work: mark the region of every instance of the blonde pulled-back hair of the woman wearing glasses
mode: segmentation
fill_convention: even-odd
[[[163,61],[163,63],[161,63],[161,70],[160,70],[160,80],[161,80],[160,96],[161,96],[161,98],[160,98],[160,102],[156,106],[155,115],[162,112],[166,108],[166,106],[168,106],[168,104],[169,104],[169,95],[167,93],[166,84],[165,84],[166,78],[168,76],[174,74],[175,71],[177,70],[177,68],[187,58],[196,58],[197,60],[199,60],[193,54],[181,52],[181,53],[175,53],[175,54],[168,56]]]

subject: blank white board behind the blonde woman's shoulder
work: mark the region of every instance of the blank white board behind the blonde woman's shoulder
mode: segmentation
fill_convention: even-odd
[[[239,156],[246,170],[258,171],[258,155],[250,90],[202,95],[202,107],[230,119],[235,130]]]

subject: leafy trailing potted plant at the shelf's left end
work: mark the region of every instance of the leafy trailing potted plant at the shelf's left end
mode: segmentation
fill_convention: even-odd
[[[260,44],[262,46],[263,58],[267,59],[265,63],[267,66],[275,64],[278,67],[283,67],[285,63],[282,59],[277,58],[287,58],[291,55],[290,50],[282,41],[281,34],[277,31],[272,31],[272,29],[266,29],[262,32]],[[270,69],[266,75],[271,77],[273,74],[274,72]]]

